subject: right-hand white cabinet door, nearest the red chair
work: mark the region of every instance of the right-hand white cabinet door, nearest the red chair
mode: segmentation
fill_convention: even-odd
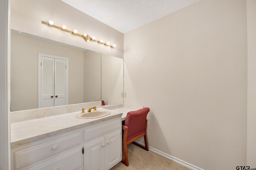
[[[106,135],[106,169],[112,168],[122,160],[121,130]]]

